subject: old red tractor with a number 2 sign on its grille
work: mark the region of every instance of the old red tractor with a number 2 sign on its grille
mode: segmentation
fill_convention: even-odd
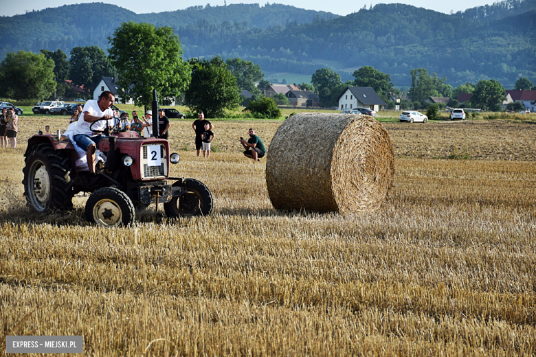
[[[153,113],[158,113],[155,91],[153,99]],[[133,224],[135,210],[151,203],[157,209],[164,204],[170,218],[211,214],[214,198],[205,184],[169,176],[170,163],[179,163],[180,158],[170,154],[168,141],[139,137],[121,129],[122,124],[104,130],[107,139],[98,143],[98,150],[106,160],[98,164],[96,174],[76,169],[79,155],[68,137],[34,135],[28,139],[23,169],[27,205],[41,213],[72,209],[75,194],[91,192],[86,218],[104,227]],[[153,133],[159,133],[156,118]]]

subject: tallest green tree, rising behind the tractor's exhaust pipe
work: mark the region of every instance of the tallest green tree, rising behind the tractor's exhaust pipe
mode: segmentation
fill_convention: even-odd
[[[148,107],[153,89],[162,104],[188,89],[191,67],[182,59],[179,36],[171,27],[129,21],[108,40],[110,60],[118,69],[120,97]]]

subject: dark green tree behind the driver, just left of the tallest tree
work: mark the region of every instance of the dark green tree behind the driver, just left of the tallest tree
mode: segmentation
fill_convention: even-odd
[[[104,50],[97,46],[74,47],[69,59],[69,72],[73,84],[84,86],[87,93],[93,90],[102,76],[114,76],[115,68],[111,65]]]

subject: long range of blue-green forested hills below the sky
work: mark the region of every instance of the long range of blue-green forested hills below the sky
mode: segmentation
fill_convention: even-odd
[[[379,4],[338,17],[276,4],[207,5],[159,14],[104,3],[65,5],[1,17],[0,58],[18,49],[60,48],[69,54],[76,46],[107,48],[115,27],[135,21],[173,27],[185,57],[241,57],[268,73],[311,76],[327,67],[346,80],[369,65],[390,74],[394,84],[409,85],[410,69],[424,67],[453,85],[493,78],[512,87],[519,76],[536,80],[535,4],[505,0],[491,5],[489,16],[473,16],[471,9],[448,15]]]

